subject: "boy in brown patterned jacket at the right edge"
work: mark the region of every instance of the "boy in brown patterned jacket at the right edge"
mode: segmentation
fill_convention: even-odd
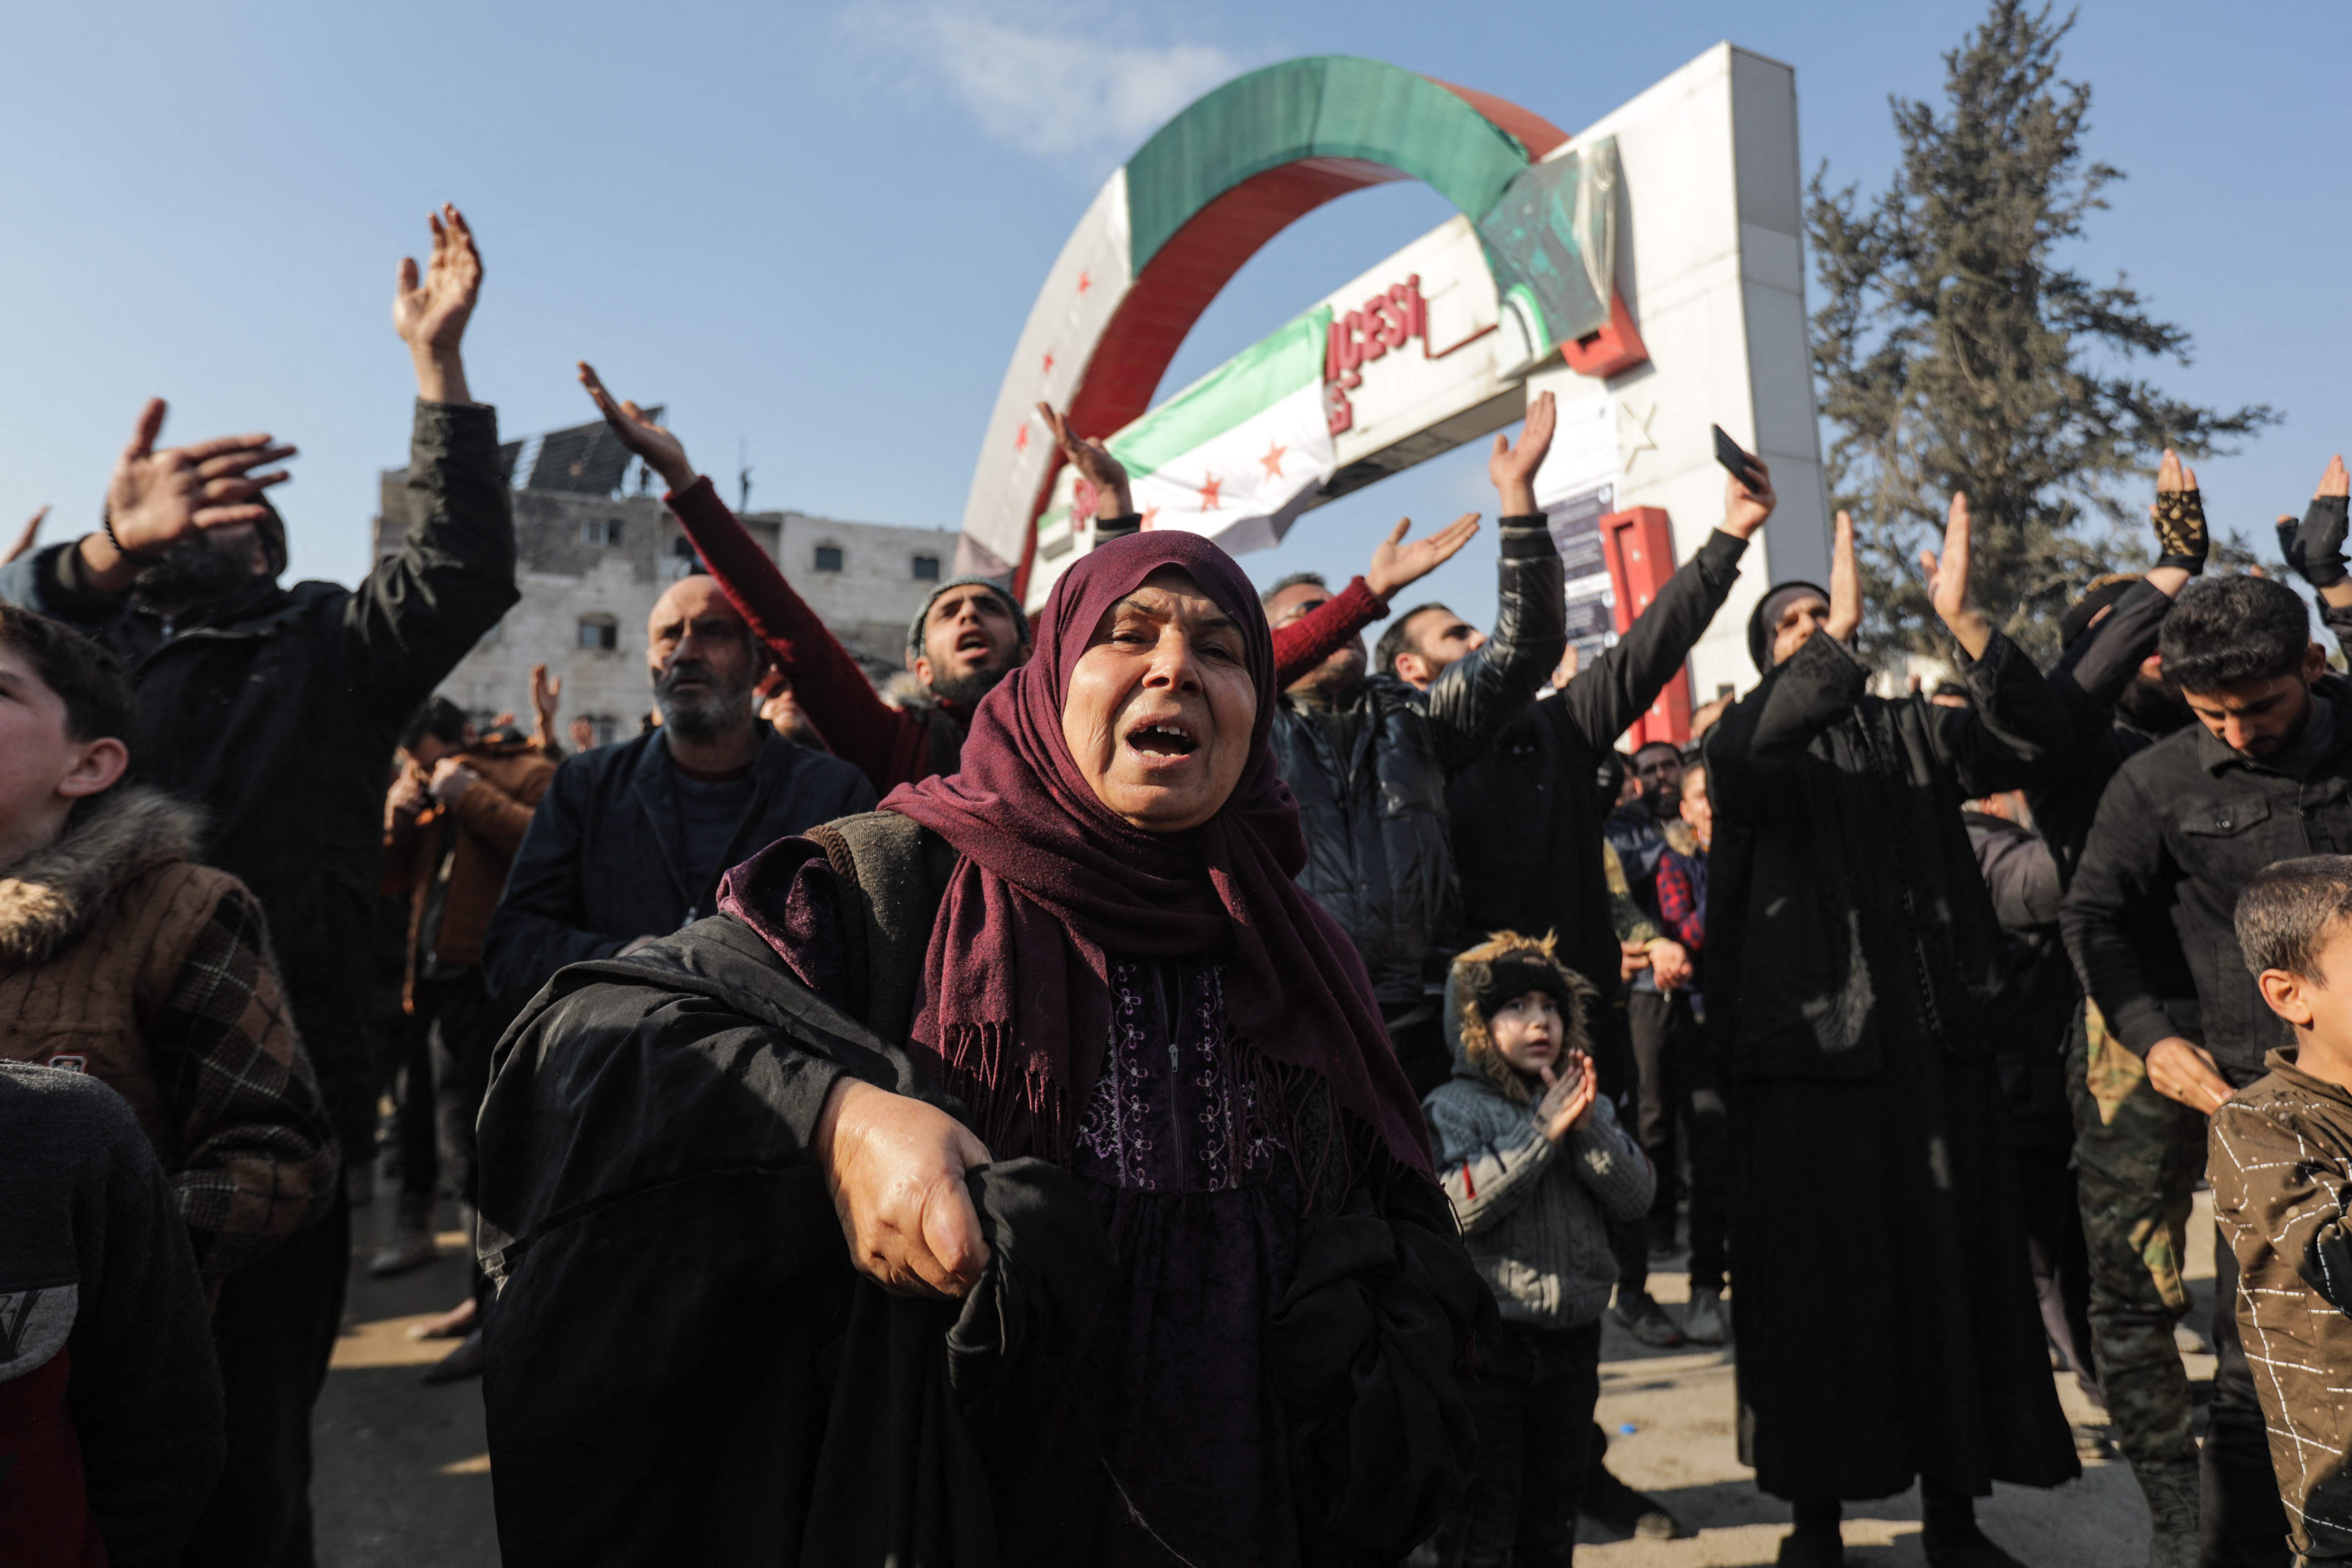
[[[2237,943],[2288,1025],[2270,1072],[2213,1112],[2209,1173],[2246,1281],[2239,1335],[2298,1563],[2352,1559],[2352,856],[2279,860],[2237,900]]]

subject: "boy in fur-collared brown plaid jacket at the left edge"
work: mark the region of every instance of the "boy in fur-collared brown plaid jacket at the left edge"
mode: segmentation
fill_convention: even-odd
[[[129,1103],[216,1291],[334,1208],[339,1152],[261,905],[122,783],[129,729],[113,654],[0,604],[0,1058]]]

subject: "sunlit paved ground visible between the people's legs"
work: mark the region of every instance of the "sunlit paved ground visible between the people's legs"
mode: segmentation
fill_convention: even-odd
[[[360,1211],[360,1260],[390,1225],[390,1204]],[[2209,1199],[2197,1199],[2190,1276],[2199,1307],[2213,1279]],[[489,1453],[477,1382],[423,1387],[416,1375],[447,1342],[416,1342],[407,1326],[466,1293],[461,1237],[445,1232],[442,1258],[393,1281],[353,1269],[350,1312],[334,1375],[318,1410],[318,1530],[327,1568],[492,1568],[499,1561],[489,1502]],[[1679,1302],[1686,1279],[1661,1269],[1651,1291]],[[2192,1321],[2204,1321],[2197,1316]],[[2190,1356],[2211,1378],[2211,1356]],[[2100,1429],[2100,1413],[2058,1380],[2067,1415]],[[1581,1563],[1592,1568],[1696,1568],[1771,1563],[1788,1509],[1755,1490],[1733,1458],[1731,1359],[1722,1352],[1651,1352],[1613,1326],[1602,1345],[1599,1420],[1609,1462],[1663,1500],[1693,1533],[1675,1542],[1602,1540],[1585,1526]],[[2032,1568],[2136,1568],[2147,1561],[2147,1512],[2131,1469],[2086,1460],[2082,1481],[2056,1493],[1999,1488],[1978,1507],[1987,1535]],[[1849,1559],[1867,1568],[1924,1563],[1919,1493],[1846,1512]]]

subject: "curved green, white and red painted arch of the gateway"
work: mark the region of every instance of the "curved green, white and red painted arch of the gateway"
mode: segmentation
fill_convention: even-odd
[[[1479,226],[1564,143],[1515,103],[1350,56],[1268,66],[1195,101],[1105,181],[1049,270],[981,444],[957,569],[1025,588],[1061,465],[1035,404],[1068,409],[1080,435],[1138,418],[1200,313],[1289,223],[1418,179]],[[1606,299],[1597,308],[1606,320]],[[1597,322],[1585,308],[1557,324]]]

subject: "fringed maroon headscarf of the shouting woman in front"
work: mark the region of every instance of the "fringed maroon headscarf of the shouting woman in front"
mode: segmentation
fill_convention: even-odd
[[[1061,736],[1070,670],[1103,611],[1162,567],[1185,571],[1242,628],[1258,717],[1232,797],[1190,832],[1112,816]],[[908,816],[960,860],[948,879],[913,1044],[971,1095],[983,1135],[1065,1147],[1110,1039],[1105,952],[1223,957],[1225,1020],[1247,1051],[1322,1077],[1388,1152],[1430,1168],[1421,1105],[1381,1025],[1348,933],[1298,891],[1298,804],[1275,771],[1275,646],[1232,557],[1197,534],[1131,534],[1054,585],[1037,646],[971,717],[962,771],[898,785]],[[1025,1126],[1023,1126],[1025,1124]],[[1025,1133],[1025,1135],[1021,1135]]]

